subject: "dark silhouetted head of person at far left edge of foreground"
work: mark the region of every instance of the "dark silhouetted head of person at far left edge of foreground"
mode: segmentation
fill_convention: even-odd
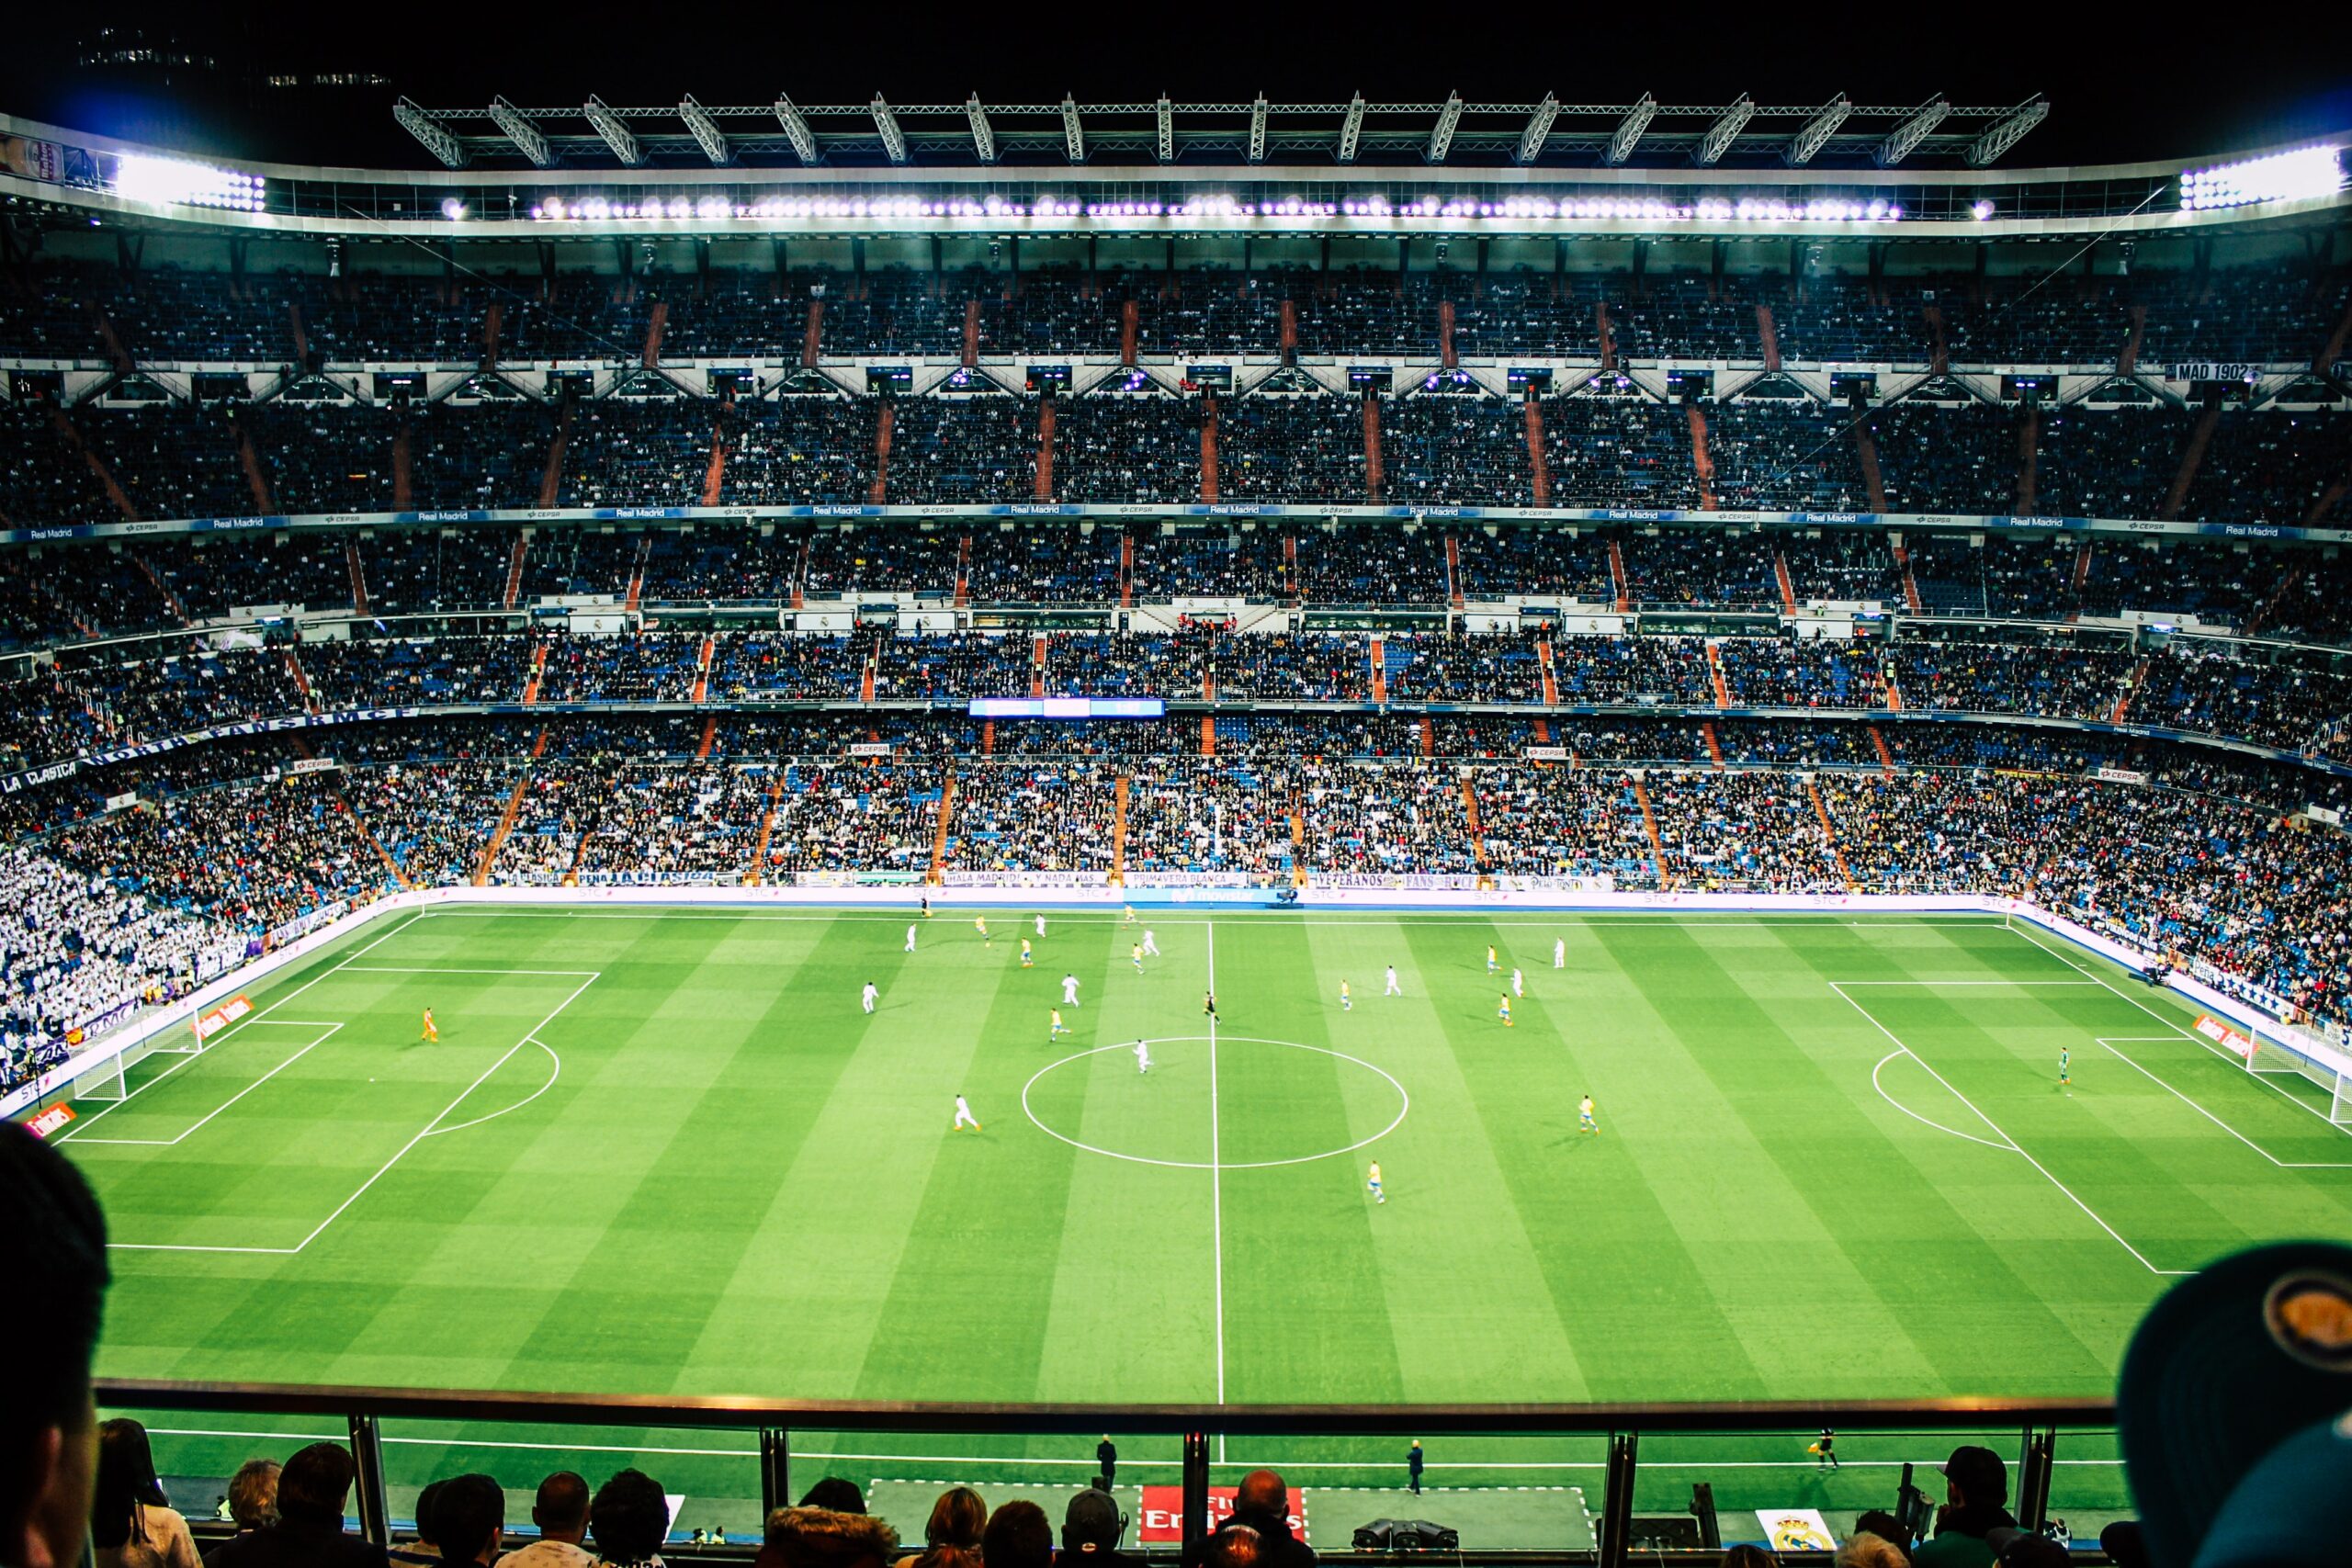
[[[38,1345],[9,1368],[0,1401],[0,1563],[82,1561],[96,1479],[89,1356],[106,1309],[106,1215],[82,1173],[0,1121],[0,1342]]]

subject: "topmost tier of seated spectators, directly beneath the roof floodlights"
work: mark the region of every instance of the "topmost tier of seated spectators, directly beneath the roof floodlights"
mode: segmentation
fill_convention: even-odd
[[[99,317],[139,362],[289,364],[296,331],[315,362],[635,362],[663,306],[666,362],[804,341],[811,306],[828,357],[955,355],[967,313],[988,355],[1105,355],[1136,310],[1145,355],[1247,355],[1282,346],[1284,310],[1305,355],[1437,357],[1442,308],[1472,357],[1588,355],[1606,308],[1618,357],[1757,362],[1764,313],[1790,364],[1926,360],[2112,369],[2145,317],[2143,362],[2310,364],[2343,315],[2340,275],[2296,263],[2046,277],[1846,277],[1809,270],[1395,273],[1188,266],[1089,273],[1068,266],[941,270],[800,266],[788,273],[136,273],[45,261],[0,296],[0,355],[99,362]],[[299,327],[296,327],[299,324]]]

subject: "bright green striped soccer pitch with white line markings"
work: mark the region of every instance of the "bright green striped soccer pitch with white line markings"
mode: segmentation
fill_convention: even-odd
[[[1115,914],[1049,914],[1037,940],[1000,910],[993,945],[941,914],[915,954],[877,912],[379,922],[256,990],[207,1053],[80,1105],[64,1147],[122,1248],[101,1373],[877,1401],[2082,1396],[2112,1392],[2171,1274],[2352,1234],[2352,1135],[2324,1100],[1997,919],[1143,924],[1162,957],[1136,976]],[[1526,969],[1508,1030],[1489,943],[1505,980]],[[1049,1039],[1063,973],[1082,1004]],[[983,1131],[950,1133],[957,1091]],[[188,1434],[158,1439],[181,1474],[334,1429],[155,1425]],[[1228,1458],[1385,1486],[1392,1446]],[[1816,1479],[1799,1439],[1656,1439],[1644,1486],[1677,1507],[1700,1465],[1738,1460],[1748,1495],[1870,1507],[1886,1465],[1947,1446],[1856,1434]],[[795,1476],[858,1481],[1091,1469],[1073,1439],[795,1448]],[[640,1450],[670,1490],[757,1495],[746,1434],[419,1425],[393,1469],[527,1486]],[[2060,1507],[2112,1500],[2112,1450],[2067,1453],[2089,1462],[2060,1469]],[[1174,1439],[1129,1455],[1174,1481]],[[1599,1495],[1597,1441],[1430,1460],[1444,1486]]]

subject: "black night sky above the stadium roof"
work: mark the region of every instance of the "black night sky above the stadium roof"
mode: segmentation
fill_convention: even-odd
[[[216,158],[428,167],[390,101],[522,106],[1115,99],[2020,103],[2049,120],[2004,165],[2197,158],[2352,127],[2336,7],[2260,21],[2178,7],[1341,7],[1341,5],[31,5],[0,52],[0,110]],[[983,14],[985,12],[985,14]],[[2098,14],[2103,31],[2072,19]],[[708,21],[703,21],[708,16]],[[649,21],[661,19],[661,21]],[[75,66],[99,26],[223,61],[172,80]],[[2338,12],[2340,24],[2340,12]],[[266,94],[270,71],[381,87]]]

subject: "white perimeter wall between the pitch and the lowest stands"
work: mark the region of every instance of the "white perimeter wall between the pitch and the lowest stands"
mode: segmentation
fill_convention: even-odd
[[[1176,884],[1176,886],[1073,886],[1051,884],[1035,891],[1051,893],[1051,905],[1070,907],[1117,907],[1127,903],[1136,891],[1157,893],[1155,903],[1169,903],[1174,907],[1223,907],[1235,914],[1244,910],[1265,910],[1265,889],[1232,889],[1232,886],[1200,886],[1200,884]],[[1646,891],[1604,891],[1604,889],[1451,889],[1451,886],[1411,886],[1442,882],[1437,877],[1397,877],[1395,886],[1357,886],[1357,889],[1303,889],[1291,910],[1404,910],[1404,912],[1477,912],[1477,910],[1552,910],[1562,914],[1599,914],[1599,912],[1689,912],[1689,914],[2006,914],[2023,919],[2051,936],[2065,938],[2086,952],[2110,959],[2133,973],[2145,976],[2150,969],[2150,954],[2114,940],[2100,931],[2091,931],[2063,914],[2053,914],[2042,905],[2027,903],[2023,898],[1994,898],[1987,893],[1646,893]],[[1576,882],[1576,879],[1559,879]],[[390,893],[362,910],[353,910],[339,919],[332,919],[292,943],[275,947],[273,952],[228,971],[226,976],[198,987],[188,997],[158,1009],[143,1018],[134,1018],[120,1030],[113,1030],[103,1039],[85,1046],[68,1060],[59,1063],[49,1072],[31,1079],[9,1095],[0,1098],[0,1117],[19,1117],[26,1110],[40,1105],[52,1093],[68,1088],[75,1079],[89,1077],[106,1070],[125,1051],[132,1051],[148,1039],[160,1034],[172,1034],[186,1030],[193,1018],[216,1006],[219,1001],[235,997],[273,973],[301,964],[322,947],[360,931],[362,926],[395,917],[395,914],[426,914],[437,907],[452,905],[543,905],[543,907],[894,907],[906,910],[908,898],[915,893],[929,893],[936,905],[955,907],[1035,907],[1035,898],[1007,898],[1007,893],[1030,891],[1030,884],[1011,886],[934,886],[922,889],[920,884],[889,884],[889,886],[776,886],[776,889],[753,889],[753,886],[604,886],[604,889],[515,889],[515,886],[445,886],[445,889],[419,889],[409,893]],[[383,936],[390,936],[386,931]],[[383,938],[376,938],[383,940]],[[2232,1023],[2246,1025],[2258,1034],[2286,1044],[2307,1060],[2336,1072],[2352,1074],[2352,1058],[2343,1048],[2328,1044],[2279,1018],[2253,997],[2223,992],[2206,980],[2169,971],[2164,985],[2180,992],[2209,1013],[2230,1018]],[[2256,992],[2239,983],[2237,990]],[[2260,994],[2260,992],[2256,992]]]

